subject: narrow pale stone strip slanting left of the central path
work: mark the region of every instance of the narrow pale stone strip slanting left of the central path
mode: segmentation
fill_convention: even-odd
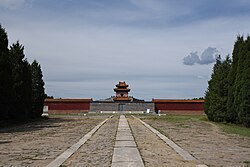
[[[112,116],[111,116],[112,117]],[[111,118],[109,117],[109,118]],[[91,136],[109,119],[105,119],[96,127],[94,127],[91,131],[89,131],[86,135],[84,135],[77,143],[73,144],[70,148],[64,151],[61,155],[59,155],[55,160],[49,163],[46,167],[59,167],[62,165],[72,154],[74,154],[87,140],[91,138]]]

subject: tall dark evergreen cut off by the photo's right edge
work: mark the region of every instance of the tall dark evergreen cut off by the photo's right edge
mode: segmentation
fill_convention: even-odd
[[[250,127],[250,37],[244,41],[239,52],[237,75],[235,79],[235,109],[239,123]]]

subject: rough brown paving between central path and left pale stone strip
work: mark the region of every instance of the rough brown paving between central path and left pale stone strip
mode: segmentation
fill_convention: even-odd
[[[110,167],[118,118],[115,116],[109,119],[62,166]]]

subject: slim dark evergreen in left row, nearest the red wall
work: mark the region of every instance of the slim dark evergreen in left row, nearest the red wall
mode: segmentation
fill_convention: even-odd
[[[43,74],[40,64],[35,60],[31,64],[32,74],[32,111],[35,117],[43,113],[43,104],[45,99]]]

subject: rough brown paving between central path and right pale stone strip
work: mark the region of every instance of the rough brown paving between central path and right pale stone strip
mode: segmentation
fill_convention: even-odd
[[[156,134],[134,118],[128,118],[136,144],[146,167],[195,167],[197,161],[185,161]]]

